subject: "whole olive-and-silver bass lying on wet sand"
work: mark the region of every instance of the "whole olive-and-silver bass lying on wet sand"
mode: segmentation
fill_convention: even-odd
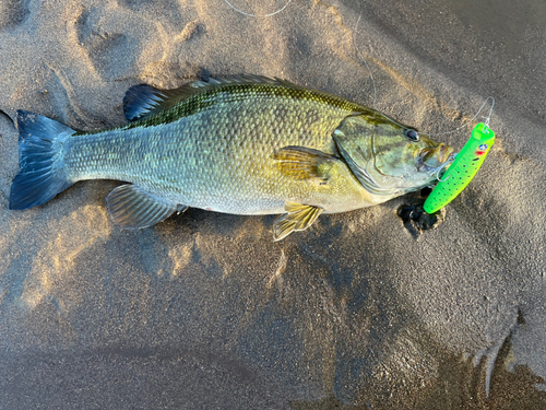
[[[79,180],[115,179],[126,184],[106,204],[121,229],[152,226],[192,207],[280,214],[280,241],[322,213],[434,185],[453,151],[373,108],[259,75],[174,90],[134,85],[123,112],[121,127],[81,131],[19,110],[10,209],[40,206]]]

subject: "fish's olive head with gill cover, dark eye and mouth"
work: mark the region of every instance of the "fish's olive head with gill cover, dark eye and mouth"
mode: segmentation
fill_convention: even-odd
[[[333,138],[358,181],[372,194],[390,197],[432,185],[453,152],[373,110],[345,118]]]

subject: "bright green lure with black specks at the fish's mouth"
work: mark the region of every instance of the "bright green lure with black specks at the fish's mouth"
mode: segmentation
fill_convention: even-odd
[[[425,201],[425,212],[435,213],[461,194],[478,172],[494,142],[495,132],[484,122],[474,127],[468,142]]]

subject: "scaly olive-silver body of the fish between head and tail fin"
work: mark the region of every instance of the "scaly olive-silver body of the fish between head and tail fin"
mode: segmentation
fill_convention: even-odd
[[[325,150],[333,130],[357,108],[296,92],[280,85],[219,87],[201,96],[206,104],[189,101],[170,116],[71,139],[66,166],[73,181],[117,179],[189,207],[280,213],[286,199],[309,201],[314,192],[290,184],[272,154],[296,144]],[[292,114],[281,118],[274,114],[278,106]],[[162,117],[178,119],[164,124]]]

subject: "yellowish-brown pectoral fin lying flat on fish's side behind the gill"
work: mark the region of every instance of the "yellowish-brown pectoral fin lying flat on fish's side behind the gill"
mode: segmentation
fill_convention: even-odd
[[[328,181],[332,165],[340,161],[333,155],[306,147],[285,147],[273,154],[276,166],[285,176],[294,179]]]

